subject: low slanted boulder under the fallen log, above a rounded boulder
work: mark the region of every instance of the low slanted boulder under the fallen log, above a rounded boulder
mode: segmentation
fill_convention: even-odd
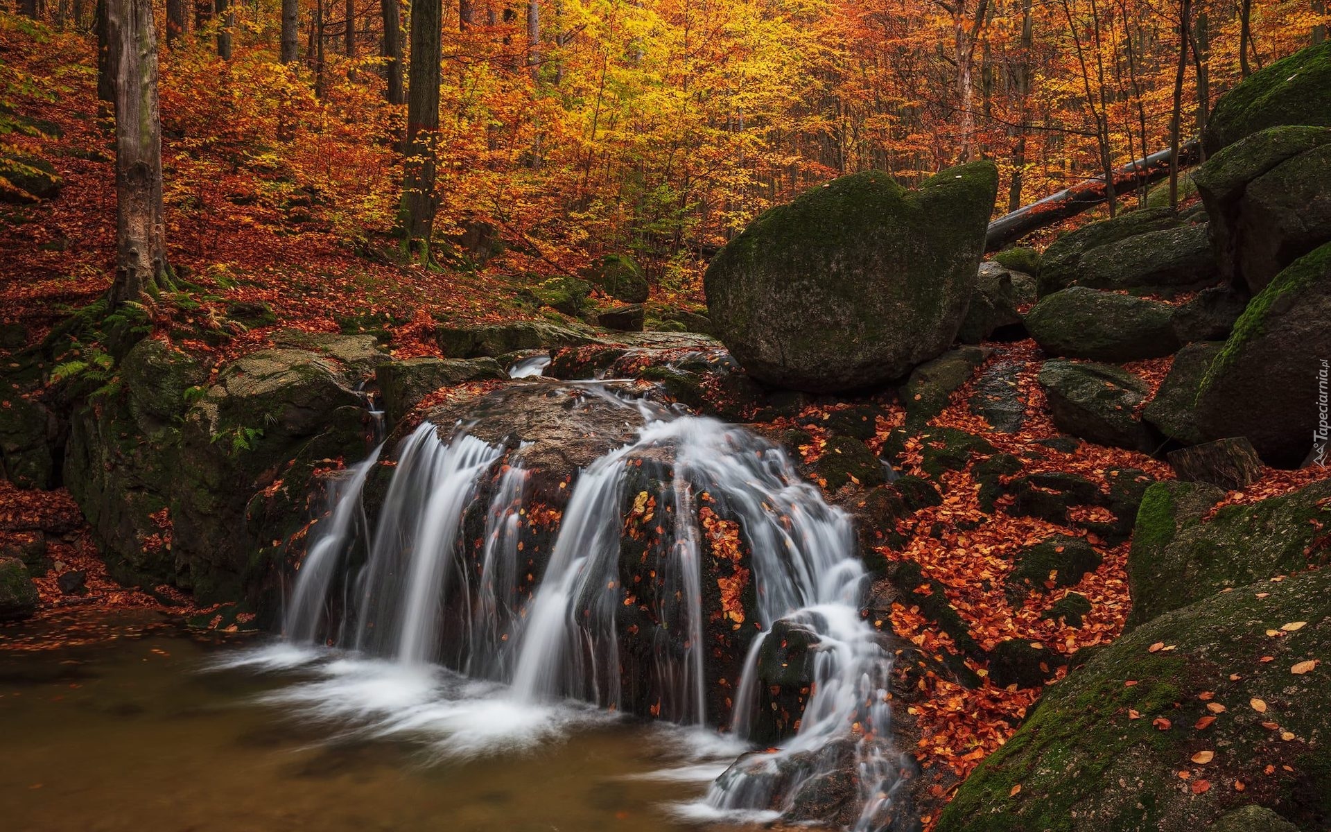
[[[1206,224],[1137,234],[1091,249],[1077,264],[1073,285],[1175,294],[1219,280]]]

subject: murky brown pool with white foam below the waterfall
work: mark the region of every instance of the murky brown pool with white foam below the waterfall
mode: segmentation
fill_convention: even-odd
[[[55,626],[0,624],[7,832],[743,828],[704,820],[739,753],[709,732],[149,611],[65,619],[87,638],[55,635],[83,644],[32,648]]]

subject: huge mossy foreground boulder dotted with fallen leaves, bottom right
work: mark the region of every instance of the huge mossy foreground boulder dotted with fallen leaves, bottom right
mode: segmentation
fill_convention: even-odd
[[[1213,595],[1099,648],[961,784],[938,832],[1193,832],[1250,804],[1326,828],[1328,596],[1331,570],[1300,572]],[[1267,635],[1291,622],[1306,626]]]

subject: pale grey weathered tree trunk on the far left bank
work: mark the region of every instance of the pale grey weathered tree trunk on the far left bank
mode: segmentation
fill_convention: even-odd
[[[116,52],[116,278],[110,304],[172,288],[162,222],[157,36],[152,0],[105,0]]]

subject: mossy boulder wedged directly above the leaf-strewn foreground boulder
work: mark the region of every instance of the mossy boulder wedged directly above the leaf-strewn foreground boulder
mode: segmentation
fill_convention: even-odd
[[[1331,526],[1331,481],[1258,503],[1209,513],[1225,491],[1158,482],[1137,513],[1127,587],[1134,627],[1222,590],[1331,559],[1319,526]]]

